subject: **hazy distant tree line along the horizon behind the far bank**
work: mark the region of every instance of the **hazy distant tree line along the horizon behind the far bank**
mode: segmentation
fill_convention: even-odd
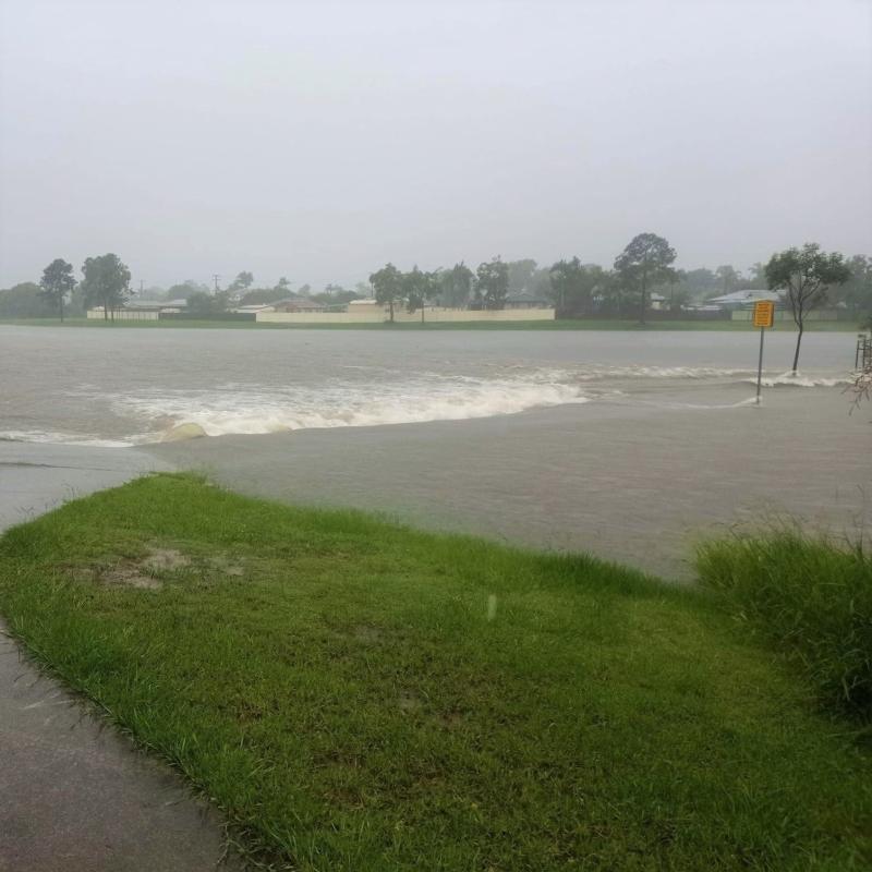
[[[827,269],[821,257],[831,258]],[[664,298],[663,308],[678,314],[732,291],[770,288],[785,293],[795,319],[799,316],[800,331],[809,311],[823,304],[858,314],[872,312],[872,257],[865,255],[846,259],[806,245],[773,255],[767,264],[754,264],[744,272],[729,264],[682,270],[675,267],[675,261],[676,251],[666,239],[640,233],[617,255],[611,268],[584,263],[578,256],[549,266],[540,266],[532,258],[502,261],[496,256],[475,269],[460,261],[432,271],[417,266],[403,271],[388,263],[370,275],[368,283],[358,282],[353,289],[327,284],[318,292],[305,283],[294,291],[286,277],[272,287],[255,287],[254,275],[243,270],[223,289],[217,279],[214,287],[187,280],[166,290],[145,289],[141,299],[184,299],[190,312],[208,317],[237,305],[269,304],[294,295],[326,306],[374,296],[392,318],[398,307],[416,312],[429,304],[500,310],[511,296],[523,294],[553,304],[560,318],[598,315],[644,320],[654,293]],[[810,264],[815,265],[818,278],[794,287],[796,277],[811,268]],[[130,269],[116,254],[86,258],[81,272],[76,281],[71,264],[52,261],[38,283],[0,290],[0,317],[81,317],[86,308],[101,306],[104,317],[111,318],[133,295]]]

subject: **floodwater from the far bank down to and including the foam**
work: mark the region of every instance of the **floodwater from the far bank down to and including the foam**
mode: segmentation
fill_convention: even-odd
[[[785,385],[794,336],[767,337]],[[796,385],[838,385],[850,334],[810,334]],[[133,445],[753,393],[756,335],[70,329],[0,326],[0,438]],[[739,388],[725,392],[724,388]],[[666,400],[665,400],[666,401]],[[593,410],[591,413],[595,414]]]

